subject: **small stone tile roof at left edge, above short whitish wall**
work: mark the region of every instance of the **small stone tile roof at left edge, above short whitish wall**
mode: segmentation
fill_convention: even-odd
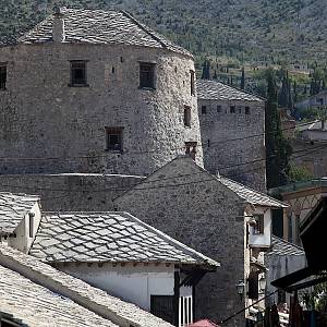
[[[12,233],[39,201],[38,196],[26,194],[0,193],[0,234]]]

